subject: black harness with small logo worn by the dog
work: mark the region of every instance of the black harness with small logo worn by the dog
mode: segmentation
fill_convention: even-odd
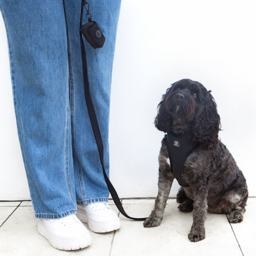
[[[195,141],[189,140],[186,137],[177,136],[177,134],[168,133],[167,136],[167,150],[171,163],[171,172],[174,178],[182,187],[189,185],[183,180],[183,166],[187,157],[195,150],[199,144]],[[215,165],[218,166],[220,159],[220,148]]]

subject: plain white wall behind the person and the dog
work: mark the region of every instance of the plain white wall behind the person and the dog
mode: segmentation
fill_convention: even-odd
[[[122,0],[110,113],[110,179],[120,197],[157,195],[163,134],[153,122],[162,94],[182,78],[212,90],[219,136],[256,196],[254,10],[254,0]],[[0,200],[29,199],[1,18],[0,79]]]

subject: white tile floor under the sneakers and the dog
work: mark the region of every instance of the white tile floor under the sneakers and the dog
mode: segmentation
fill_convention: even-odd
[[[154,200],[126,199],[122,200],[122,204],[130,216],[145,217],[151,212]],[[226,215],[208,213],[206,239],[197,243],[191,243],[187,238],[192,214],[180,212],[177,206],[175,199],[168,200],[165,216],[159,227],[145,229],[141,221],[120,216],[120,230],[105,234],[91,232],[91,246],[64,252],[52,248],[37,233],[37,219],[31,202],[0,202],[0,256],[256,255],[256,198],[248,199],[244,221],[241,223],[230,224]]]

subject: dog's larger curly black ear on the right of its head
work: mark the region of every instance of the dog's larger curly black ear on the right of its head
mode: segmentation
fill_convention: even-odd
[[[215,143],[218,140],[220,131],[220,118],[217,112],[217,105],[211,95],[207,92],[203,108],[192,124],[192,139],[199,143]]]

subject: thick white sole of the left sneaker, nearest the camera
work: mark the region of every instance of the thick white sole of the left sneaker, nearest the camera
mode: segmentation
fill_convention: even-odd
[[[92,239],[89,232],[88,234],[80,237],[61,238],[49,231],[47,227],[40,221],[38,222],[37,231],[41,236],[48,240],[52,247],[61,251],[79,250],[92,244]]]

